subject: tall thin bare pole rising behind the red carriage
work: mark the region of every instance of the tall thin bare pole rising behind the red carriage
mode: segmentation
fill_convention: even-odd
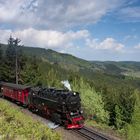
[[[15,50],[16,50],[16,84],[18,85],[18,54],[17,54],[17,52],[18,52],[18,44],[20,43],[20,39],[18,39],[18,38],[16,38],[15,40],[14,40],[14,46],[15,46]]]

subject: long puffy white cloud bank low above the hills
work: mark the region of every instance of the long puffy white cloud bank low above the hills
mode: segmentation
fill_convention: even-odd
[[[113,38],[106,38],[103,41],[91,38],[90,32],[88,30],[79,31],[68,31],[60,32],[55,30],[37,30],[33,28],[11,31],[11,30],[0,30],[2,35],[0,42],[6,43],[10,34],[14,37],[21,39],[25,46],[43,47],[43,48],[76,48],[78,47],[75,41],[83,41],[81,47],[86,47],[87,49],[97,49],[97,50],[110,50],[110,51],[122,51],[124,45],[117,42]],[[60,50],[61,51],[61,50]]]

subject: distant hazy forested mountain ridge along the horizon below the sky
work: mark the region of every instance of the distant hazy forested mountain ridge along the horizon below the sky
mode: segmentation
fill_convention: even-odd
[[[3,50],[7,45],[1,45]],[[140,77],[140,62],[134,61],[87,61],[70,54],[59,53],[51,49],[22,47],[26,55],[35,55],[43,61],[57,64],[61,68],[80,73],[105,73],[110,75],[126,75]]]

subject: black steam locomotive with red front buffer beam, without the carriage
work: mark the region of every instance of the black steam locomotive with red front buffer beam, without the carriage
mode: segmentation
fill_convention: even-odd
[[[45,113],[53,122],[66,128],[83,127],[83,115],[78,92],[55,88],[31,88],[29,108]]]

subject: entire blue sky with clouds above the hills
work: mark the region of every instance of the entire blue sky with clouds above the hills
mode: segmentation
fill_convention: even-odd
[[[140,0],[0,0],[0,43],[86,60],[140,61]]]

